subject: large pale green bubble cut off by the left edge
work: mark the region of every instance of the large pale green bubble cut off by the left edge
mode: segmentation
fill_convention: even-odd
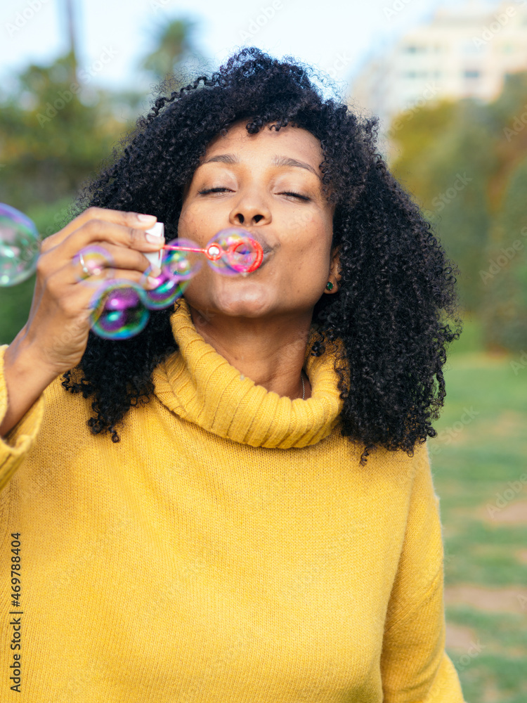
[[[0,285],[16,285],[37,269],[40,237],[32,220],[0,202]]]

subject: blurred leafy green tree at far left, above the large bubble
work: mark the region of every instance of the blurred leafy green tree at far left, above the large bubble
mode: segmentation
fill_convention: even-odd
[[[0,110],[1,202],[23,211],[73,196],[111,153],[124,125],[92,79],[85,71],[72,81],[70,56],[30,65],[18,77]]]

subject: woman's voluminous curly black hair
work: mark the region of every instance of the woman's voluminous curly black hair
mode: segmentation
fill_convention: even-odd
[[[315,306],[319,334],[311,353],[343,342],[335,364],[344,399],[341,432],[363,444],[360,463],[377,446],[412,456],[417,441],[437,434],[431,420],[445,398],[446,347],[462,329],[458,271],[377,153],[377,118],[362,119],[338,98],[323,98],[313,75],[293,60],[243,49],[209,77],[158,97],[76,208],[155,214],[167,240],[176,238],[184,188],[212,138],[238,120],[247,120],[249,134],[271,123],[310,131],[320,140],[323,187],[335,206],[340,271],[338,292]],[[90,333],[63,386],[93,396],[93,434],[110,432],[119,441],[124,415],[148,402],[152,370],[176,350],[172,312],[152,311],[145,330],[126,342]]]

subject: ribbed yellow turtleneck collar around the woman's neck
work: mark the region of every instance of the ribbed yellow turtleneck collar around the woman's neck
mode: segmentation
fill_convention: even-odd
[[[311,398],[291,400],[242,378],[197,332],[184,299],[171,325],[178,352],[155,369],[155,394],[181,418],[219,437],[278,449],[316,444],[337,424],[342,401],[330,354],[306,352]]]

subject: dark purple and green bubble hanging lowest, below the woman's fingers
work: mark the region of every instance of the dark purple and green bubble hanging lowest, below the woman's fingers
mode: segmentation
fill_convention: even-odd
[[[100,288],[91,300],[91,329],[107,340],[126,340],[144,330],[150,312],[145,290],[125,278]]]

